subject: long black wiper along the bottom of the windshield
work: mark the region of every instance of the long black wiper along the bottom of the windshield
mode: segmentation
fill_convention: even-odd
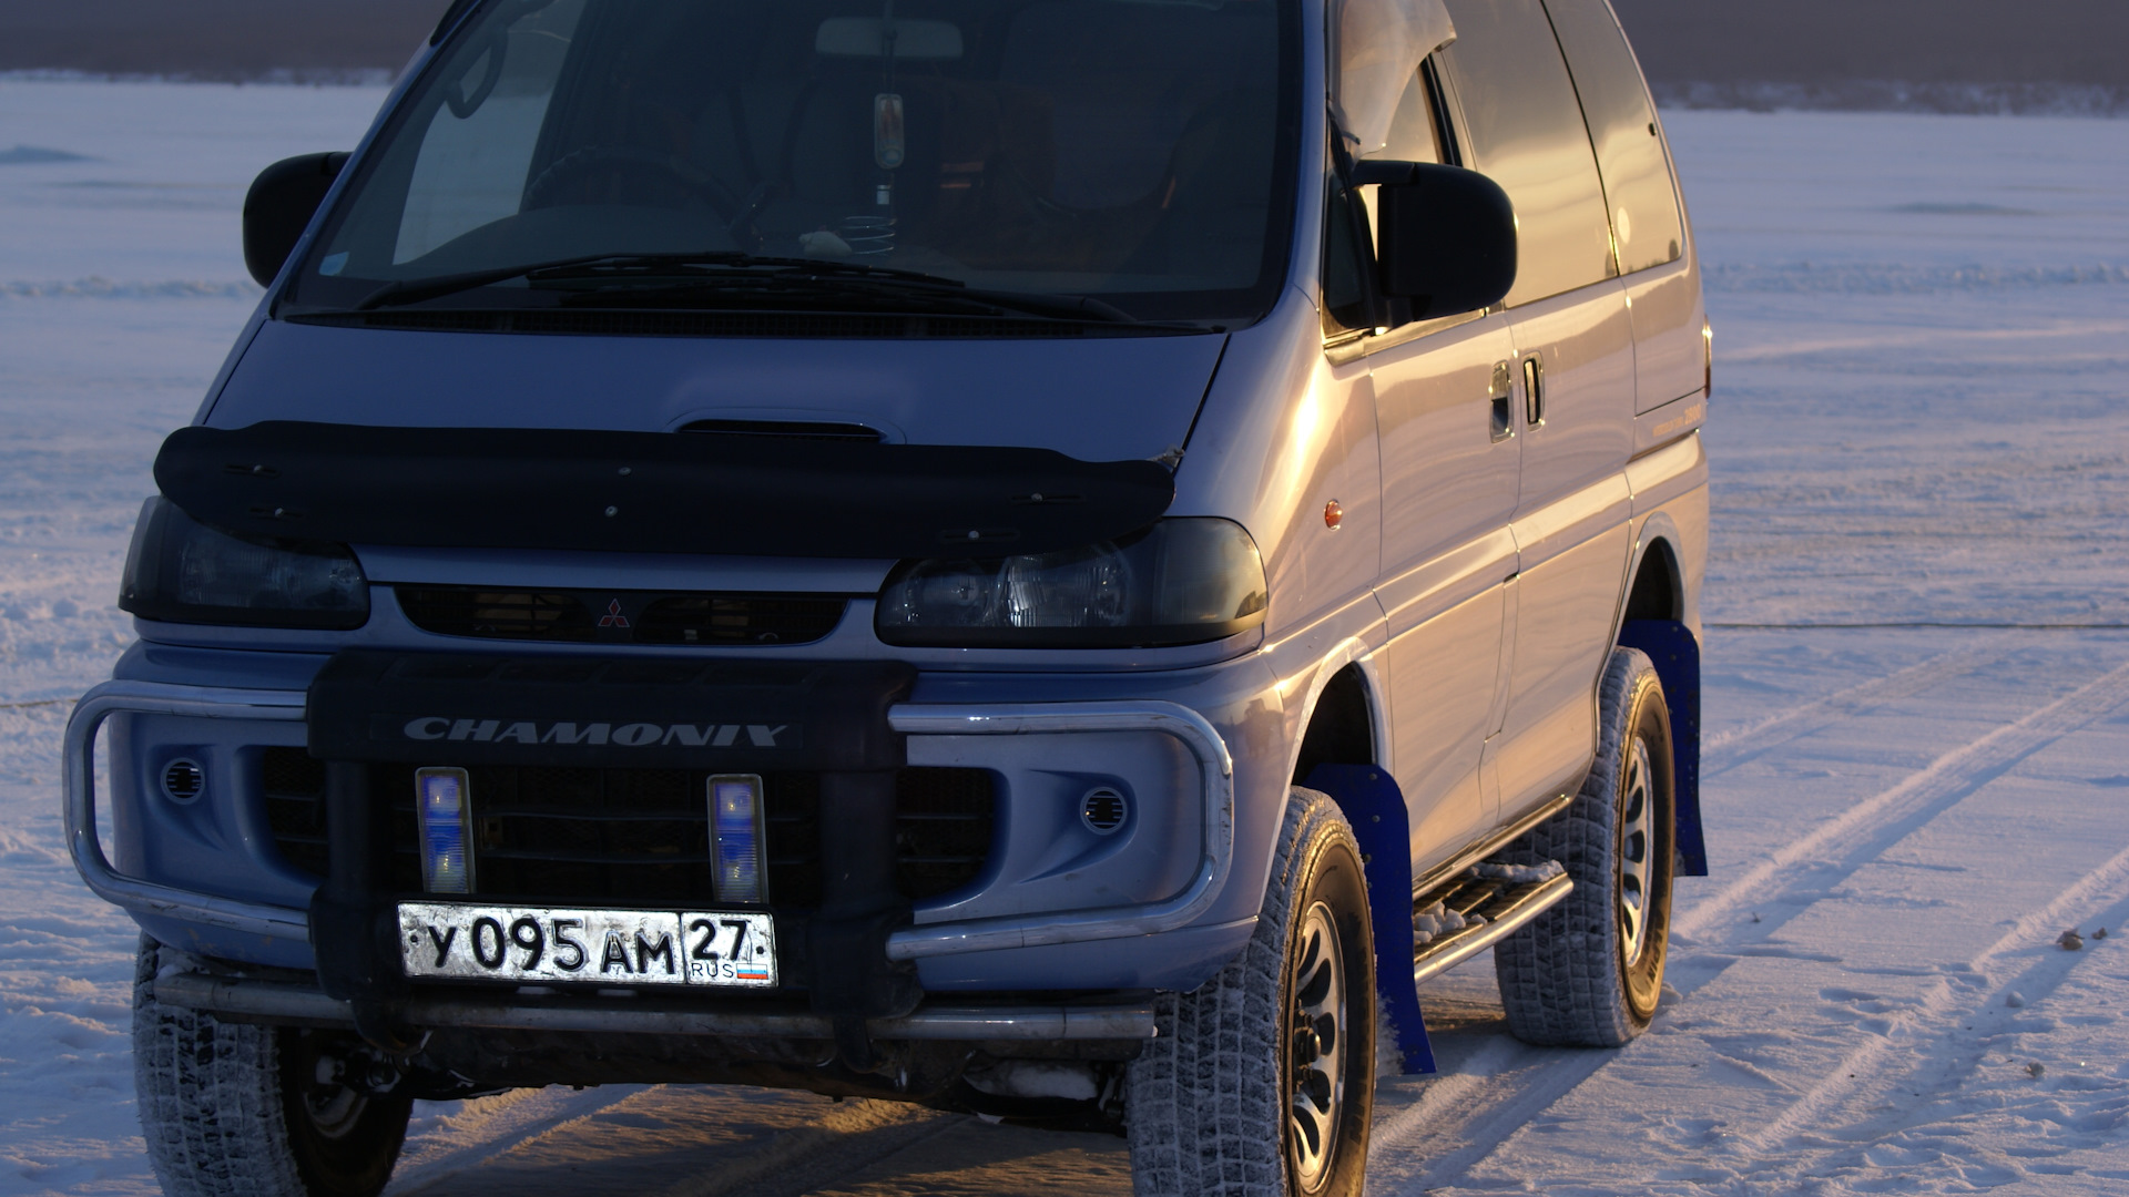
[[[356,311],[407,307],[511,279],[528,279],[534,283],[575,279],[603,281],[596,290],[732,290],[745,285],[813,292],[845,290],[864,292],[875,298],[924,296],[947,305],[975,305],[992,311],[1011,311],[1043,319],[1145,324],[1128,311],[1090,296],[1001,292],[971,288],[960,279],[943,275],[867,266],[862,262],[758,258],[752,253],[596,253],[541,262],[534,266],[505,266],[494,270],[468,270],[464,275],[439,275],[434,279],[409,279],[400,283],[385,283],[377,292],[370,292],[356,305]],[[1175,328],[1196,330],[1196,326]]]

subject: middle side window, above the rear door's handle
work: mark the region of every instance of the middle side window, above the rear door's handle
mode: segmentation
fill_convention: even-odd
[[[1516,202],[1522,270],[1507,307],[1614,277],[1612,222],[1582,104],[1539,0],[1448,0],[1467,166]]]

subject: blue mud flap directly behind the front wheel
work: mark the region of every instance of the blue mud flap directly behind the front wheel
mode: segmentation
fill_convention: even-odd
[[[1373,765],[1318,765],[1303,786],[1337,799],[1360,841],[1367,914],[1375,924],[1375,990],[1397,1035],[1405,1073],[1433,1073],[1420,986],[1412,980],[1412,818],[1405,792]]]

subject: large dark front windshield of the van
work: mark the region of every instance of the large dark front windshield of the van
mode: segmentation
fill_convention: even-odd
[[[786,277],[490,277],[656,256],[1248,319],[1286,273],[1292,2],[488,0],[394,113],[283,313],[381,292],[807,302]],[[939,290],[841,288],[835,305]]]

